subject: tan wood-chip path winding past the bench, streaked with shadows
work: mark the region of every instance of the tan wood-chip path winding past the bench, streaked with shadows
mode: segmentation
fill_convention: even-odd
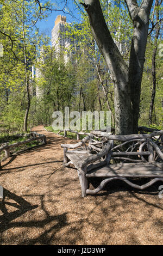
[[[139,191],[112,181],[83,199],[76,170],[62,167],[60,144],[74,141],[43,126],[33,130],[47,136],[47,145],[8,159],[0,170],[1,245],[163,243],[161,183]]]

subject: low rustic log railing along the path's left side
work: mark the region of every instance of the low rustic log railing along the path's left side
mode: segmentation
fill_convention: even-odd
[[[32,142],[32,141],[38,141],[38,140],[42,141],[42,144],[46,144],[46,136],[45,135],[39,134],[37,132],[30,132],[28,134],[28,136],[32,136],[32,138],[26,139],[26,141],[16,142],[16,143],[13,143],[13,144],[10,144],[10,145],[9,144],[3,145],[2,147],[0,147],[0,153],[4,150],[5,159],[7,159],[10,156],[10,149],[11,148],[15,148],[15,147],[18,147],[20,145],[27,144],[27,143]],[[0,161],[0,166],[1,166],[1,161]]]

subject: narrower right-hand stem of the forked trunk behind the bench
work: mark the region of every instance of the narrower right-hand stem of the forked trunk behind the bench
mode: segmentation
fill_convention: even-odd
[[[131,42],[129,62],[129,83],[131,102],[133,104],[133,132],[137,133],[139,120],[140,92],[147,45],[149,14],[153,0],[142,1],[140,8],[136,1],[127,0],[130,16],[134,23],[133,40]],[[134,5],[135,3],[135,5]],[[131,5],[133,4],[133,6]],[[133,13],[134,8],[134,13]]]

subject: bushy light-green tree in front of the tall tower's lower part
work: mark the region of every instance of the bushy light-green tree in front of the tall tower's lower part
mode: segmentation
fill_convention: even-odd
[[[64,64],[62,57],[55,57],[55,50],[43,47],[37,62],[39,77],[36,78],[36,111],[41,123],[52,121],[53,111],[64,111],[72,103],[74,76],[71,65]],[[36,114],[37,115],[37,114]]]

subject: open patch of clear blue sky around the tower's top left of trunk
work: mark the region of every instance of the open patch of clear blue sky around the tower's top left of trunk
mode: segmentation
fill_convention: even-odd
[[[41,1],[42,3],[45,2],[45,1]],[[54,9],[56,8],[55,4],[58,2],[58,1],[51,1],[54,3]],[[73,0],[68,0],[68,10],[66,11],[66,13],[70,12],[70,14],[64,14],[62,11],[52,11],[52,14],[50,14],[50,11],[49,11],[49,16],[46,18],[46,20],[42,20],[42,21],[39,21],[37,22],[37,27],[39,27],[40,31],[46,33],[48,36],[51,37],[51,31],[52,31],[52,28],[54,27],[54,22],[55,22],[55,19],[58,15],[65,15],[66,16],[66,19],[67,19],[67,22],[80,22],[80,15],[79,15],[79,10],[76,8],[76,6],[74,5],[73,3]],[[61,6],[58,6],[57,9],[61,9],[62,7]]]

